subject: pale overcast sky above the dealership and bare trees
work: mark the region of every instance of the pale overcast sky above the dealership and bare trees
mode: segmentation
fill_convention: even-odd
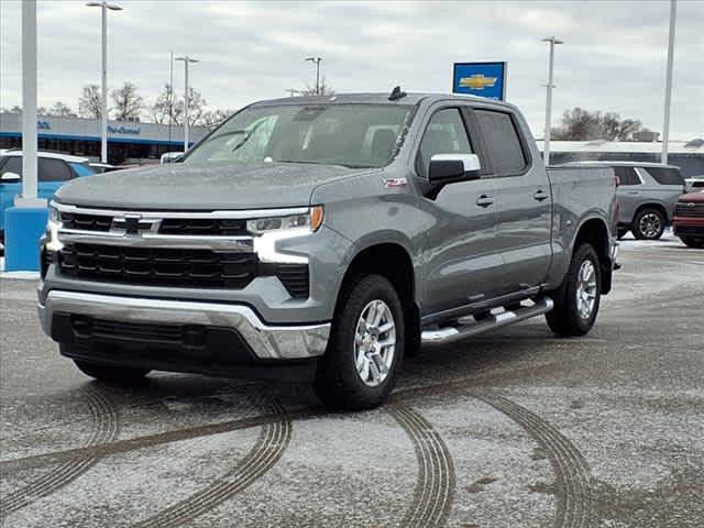
[[[662,129],[669,0],[464,2],[200,2],[118,0],[109,14],[108,82],[147,102],[168,81],[169,52],[201,62],[191,85],[209,108],[237,109],[312,82],[309,55],[337,91],[450,91],[452,64],[508,62],[508,100],[542,135],[548,48],[554,119],[580,106]],[[100,11],[38,2],[38,101],[76,109],[100,80]],[[183,86],[183,63],[175,65]],[[21,106],[21,2],[0,0],[0,107]],[[704,136],[704,0],[679,0],[671,138]]]

